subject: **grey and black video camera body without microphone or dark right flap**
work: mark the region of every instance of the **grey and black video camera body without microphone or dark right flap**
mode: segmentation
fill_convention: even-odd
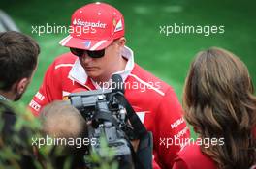
[[[71,104],[76,107],[88,123],[88,138],[95,139],[96,144],[90,145],[101,157],[106,157],[100,147],[100,137],[105,136],[107,145],[113,149],[119,165],[132,165],[132,152],[129,138],[124,130],[130,128],[127,123],[126,109],[115,98],[117,91],[112,89],[94,90],[74,93],[69,96]],[[86,162],[86,161],[85,161]],[[122,163],[122,164],[120,164]],[[88,167],[92,164],[88,163]]]

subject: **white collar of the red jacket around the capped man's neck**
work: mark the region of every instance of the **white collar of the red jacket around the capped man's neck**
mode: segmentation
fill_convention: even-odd
[[[126,78],[128,77],[128,75],[131,73],[131,71],[134,68],[134,54],[133,54],[132,49],[130,49],[127,46],[123,47],[123,49],[121,51],[121,54],[124,58],[126,58],[128,60],[126,66],[125,66],[125,69],[121,70],[121,71],[114,72],[112,74],[121,75],[123,81],[125,81]],[[73,65],[72,69],[70,70],[69,78],[71,78],[72,80],[77,81],[81,85],[84,85],[86,83],[88,75],[87,75],[86,71],[83,69],[83,67],[80,65],[80,60],[79,59],[77,59],[77,61]],[[93,80],[92,80],[92,82],[93,82]],[[96,89],[101,88],[95,82],[93,82],[93,84],[96,87]]]

